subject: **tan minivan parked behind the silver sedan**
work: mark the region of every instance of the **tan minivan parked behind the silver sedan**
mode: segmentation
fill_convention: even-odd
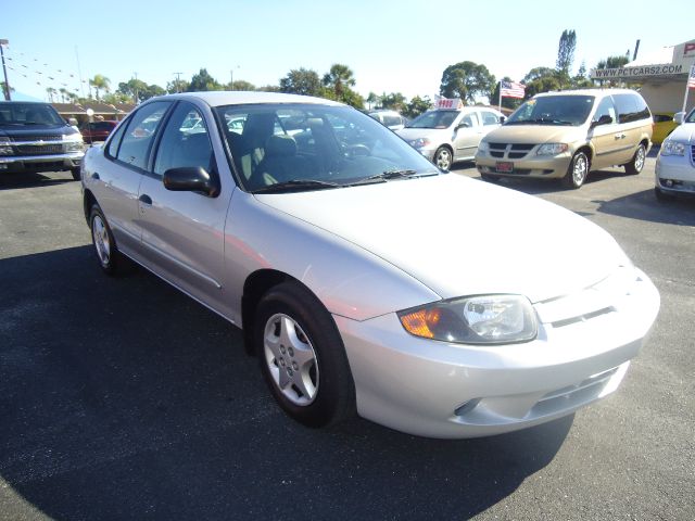
[[[483,179],[563,179],[579,188],[591,170],[614,165],[640,174],[652,145],[652,114],[628,89],[536,94],[483,138],[476,166]]]

